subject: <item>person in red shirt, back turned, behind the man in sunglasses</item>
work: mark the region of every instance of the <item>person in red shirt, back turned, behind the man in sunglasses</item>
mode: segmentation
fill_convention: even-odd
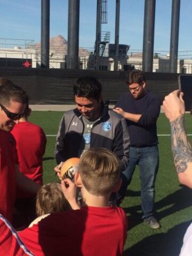
[[[19,123],[14,125],[11,134],[15,139],[19,171],[37,184],[43,185],[43,155],[46,136],[40,126],[28,121],[30,113],[27,98],[25,113],[19,119]],[[17,200],[14,205],[17,214],[13,218],[14,228],[24,229],[36,218],[35,201],[35,195],[17,188]]]

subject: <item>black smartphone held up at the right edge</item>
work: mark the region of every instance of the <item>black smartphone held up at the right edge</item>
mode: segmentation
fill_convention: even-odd
[[[192,110],[192,75],[179,75],[179,90],[183,92],[186,111]]]

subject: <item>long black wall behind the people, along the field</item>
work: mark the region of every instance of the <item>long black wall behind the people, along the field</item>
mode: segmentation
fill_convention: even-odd
[[[74,104],[73,84],[78,77],[94,76],[103,87],[103,98],[114,104],[127,92],[129,71],[66,70],[46,68],[0,68],[1,77],[11,79],[29,95],[30,104]],[[147,89],[163,98],[178,89],[179,74],[145,73]]]

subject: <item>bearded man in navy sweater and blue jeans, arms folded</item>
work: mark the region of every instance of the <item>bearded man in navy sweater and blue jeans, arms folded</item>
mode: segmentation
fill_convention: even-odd
[[[159,228],[153,217],[155,179],[158,171],[158,140],[156,121],[161,100],[147,92],[146,79],[139,70],[133,70],[127,79],[129,92],[117,101],[114,111],[126,119],[130,134],[130,157],[127,169],[122,173],[122,187],[119,190],[119,203],[125,197],[135,166],[139,165],[141,179],[142,219],[150,228]]]

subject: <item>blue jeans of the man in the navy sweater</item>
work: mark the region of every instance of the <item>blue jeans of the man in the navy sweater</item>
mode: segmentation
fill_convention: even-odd
[[[155,198],[155,179],[159,166],[158,147],[131,147],[129,165],[122,172],[122,186],[118,191],[118,199],[125,197],[127,186],[130,184],[136,165],[139,165],[141,180],[142,218],[153,215]]]

